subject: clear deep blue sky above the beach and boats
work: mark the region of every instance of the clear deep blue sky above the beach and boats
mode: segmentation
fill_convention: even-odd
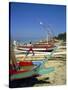
[[[10,3],[10,33],[14,40],[44,39],[47,28],[52,35],[66,31],[66,7],[63,5]]]

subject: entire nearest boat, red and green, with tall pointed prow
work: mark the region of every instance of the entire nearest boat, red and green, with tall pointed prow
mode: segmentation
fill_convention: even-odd
[[[48,61],[48,59],[52,56],[52,54],[56,49],[57,47],[54,48],[54,50],[51,52],[50,55],[47,56],[45,60],[17,62],[15,58],[14,49],[12,47],[11,53],[10,53],[11,54],[11,64],[10,64],[10,70],[9,70],[10,80],[17,80],[17,79],[23,79],[23,78],[28,78],[32,76],[48,74],[54,71],[54,67],[46,68],[44,65]]]

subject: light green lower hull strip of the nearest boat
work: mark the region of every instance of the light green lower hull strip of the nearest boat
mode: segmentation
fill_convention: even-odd
[[[32,77],[32,76],[36,76],[36,75],[42,75],[42,74],[48,74],[50,72],[54,71],[53,67],[49,67],[49,68],[36,68],[27,72],[22,72],[22,73],[18,73],[18,74],[13,74],[11,75],[11,80],[15,80],[15,79],[23,79],[23,78],[28,78],[28,77]]]

